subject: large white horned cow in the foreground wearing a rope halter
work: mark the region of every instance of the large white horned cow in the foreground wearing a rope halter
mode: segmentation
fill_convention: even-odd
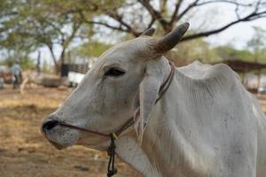
[[[227,65],[176,68],[155,104],[171,70],[163,54],[187,28],[184,23],[161,39],[147,36],[149,30],[107,50],[44,120],[44,135],[59,149],[106,150],[109,138],[56,122],[108,135],[133,116],[136,131],[124,130],[115,152],[146,177],[265,177],[264,114]]]

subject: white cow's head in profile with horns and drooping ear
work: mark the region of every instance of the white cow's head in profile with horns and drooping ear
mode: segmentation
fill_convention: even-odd
[[[149,29],[140,37],[106,50],[66,102],[43,121],[43,134],[58,148],[78,143],[106,150],[109,139],[53,122],[63,121],[108,135],[134,116],[137,109],[140,121],[136,127],[142,130],[167,77],[168,62],[162,55],[176,46],[188,27],[184,23],[160,39],[149,36],[154,32]]]

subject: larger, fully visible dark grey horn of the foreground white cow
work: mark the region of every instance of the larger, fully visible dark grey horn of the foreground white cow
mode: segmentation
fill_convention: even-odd
[[[187,31],[187,29],[190,27],[190,24],[188,22],[185,22],[184,24],[176,27],[173,31],[168,33],[168,35],[165,35],[161,39],[159,39],[158,42],[156,42],[154,46],[154,50],[164,53],[168,50],[173,49],[176,44],[182,39],[183,35]]]

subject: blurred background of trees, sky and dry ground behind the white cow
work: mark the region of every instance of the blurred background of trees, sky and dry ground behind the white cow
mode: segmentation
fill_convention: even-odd
[[[266,0],[0,0],[0,176],[105,176],[105,152],[54,149],[43,118],[113,44],[185,21],[168,59],[230,65],[266,111]]]

